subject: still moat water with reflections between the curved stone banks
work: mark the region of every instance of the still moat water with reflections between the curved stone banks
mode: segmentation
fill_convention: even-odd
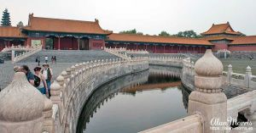
[[[159,74],[158,74],[159,73]],[[178,75],[145,71],[100,86],[79,117],[79,133],[135,133],[187,115]]]

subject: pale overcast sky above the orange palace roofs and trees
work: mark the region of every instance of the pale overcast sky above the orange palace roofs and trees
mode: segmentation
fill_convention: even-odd
[[[214,23],[230,22],[234,30],[256,35],[256,0],[0,0],[12,25],[27,25],[28,14],[58,19],[99,19],[105,30],[157,35],[161,30],[201,33]]]

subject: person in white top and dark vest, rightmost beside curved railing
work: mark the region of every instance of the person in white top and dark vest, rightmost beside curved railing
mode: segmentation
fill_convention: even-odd
[[[49,91],[50,97],[50,81],[52,78],[52,69],[49,68],[49,64],[43,64],[44,69],[42,69],[42,74],[44,75],[44,79],[46,80],[46,85]]]

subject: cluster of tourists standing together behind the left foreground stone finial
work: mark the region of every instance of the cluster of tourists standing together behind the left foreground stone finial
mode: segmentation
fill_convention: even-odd
[[[50,84],[52,79],[52,69],[49,68],[49,64],[43,64],[43,69],[40,67],[35,67],[34,74],[28,68],[27,65],[15,66],[15,72],[24,72],[26,75],[26,79],[29,83],[36,87],[38,91],[42,94],[50,97]]]

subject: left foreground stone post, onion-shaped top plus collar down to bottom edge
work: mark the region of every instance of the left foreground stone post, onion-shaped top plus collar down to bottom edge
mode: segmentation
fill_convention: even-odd
[[[42,133],[44,95],[17,72],[13,81],[0,92],[1,133]]]

